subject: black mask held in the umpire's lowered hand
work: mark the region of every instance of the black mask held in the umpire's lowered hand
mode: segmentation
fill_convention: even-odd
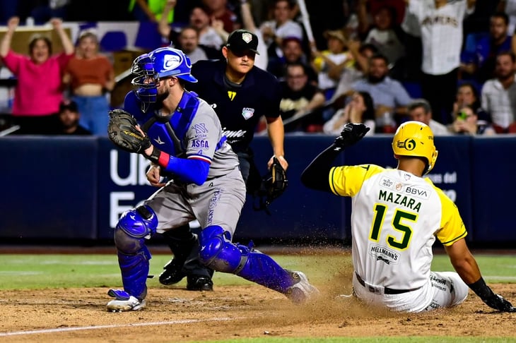
[[[262,179],[262,184],[256,192],[259,198],[259,205],[253,204],[254,210],[265,210],[267,214],[271,214],[267,208],[271,202],[278,198],[287,188],[288,180],[285,169],[281,167],[278,159],[274,157],[271,170]]]

